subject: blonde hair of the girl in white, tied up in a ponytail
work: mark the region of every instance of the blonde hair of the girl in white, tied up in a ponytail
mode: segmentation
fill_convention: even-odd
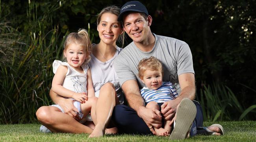
[[[88,63],[91,60],[91,40],[89,39],[88,32],[85,29],[80,29],[78,32],[71,32],[65,42],[64,42],[64,51],[67,50],[70,43],[76,43],[77,45],[81,45],[87,54],[87,58],[84,63]],[[64,52],[63,52],[64,53]],[[66,57],[63,54],[63,59],[66,60]]]

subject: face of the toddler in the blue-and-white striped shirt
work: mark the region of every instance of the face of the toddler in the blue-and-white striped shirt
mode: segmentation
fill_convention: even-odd
[[[158,89],[163,84],[161,70],[146,70],[143,73],[143,83],[152,90]]]

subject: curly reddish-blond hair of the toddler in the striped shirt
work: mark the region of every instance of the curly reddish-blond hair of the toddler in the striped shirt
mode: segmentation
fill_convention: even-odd
[[[151,56],[150,58],[143,58],[141,61],[139,61],[139,78],[143,78],[143,73],[146,70],[161,70],[161,73],[163,75],[163,66],[159,59],[157,59],[154,56]]]

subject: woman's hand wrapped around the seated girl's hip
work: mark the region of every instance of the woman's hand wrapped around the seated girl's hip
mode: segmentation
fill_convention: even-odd
[[[65,99],[63,101],[60,101],[59,106],[61,106],[61,108],[64,110],[64,113],[72,116],[76,120],[80,119],[78,115],[78,110],[74,106],[72,99]]]

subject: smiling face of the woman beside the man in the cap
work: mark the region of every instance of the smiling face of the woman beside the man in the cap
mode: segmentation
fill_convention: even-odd
[[[115,44],[118,36],[123,32],[121,27],[121,24],[117,22],[117,16],[115,14],[102,14],[97,27],[100,40],[106,44]]]

